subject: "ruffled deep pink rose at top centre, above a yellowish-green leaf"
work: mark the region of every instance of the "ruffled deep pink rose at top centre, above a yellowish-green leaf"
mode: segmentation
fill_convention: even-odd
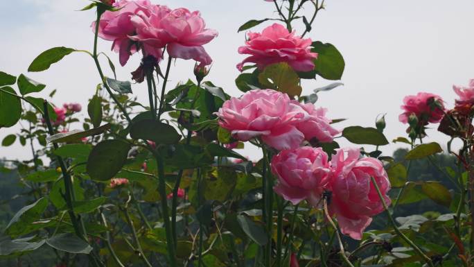
[[[295,71],[315,68],[317,53],[310,51],[311,39],[301,39],[280,24],[268,26],[262,33],[248,33],[248,38],[245,46],[238,48],[238,53],[250,55],[237,64],[240,71],[247,62],[256,63],[259,69],[279,62],[287,62]]]

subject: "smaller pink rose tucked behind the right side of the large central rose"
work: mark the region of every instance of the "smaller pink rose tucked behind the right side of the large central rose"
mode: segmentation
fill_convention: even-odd
[[[331,126],[331,119],[325,117],[326,109],[315,108],[312,103],[301,104],[301,107],[309,114],[308,119],[297,124],[298,130],[304,134],[304,139],[310,141],[316,138],[322,143],[331,143],[333,137],[340,133],[340,130]]]

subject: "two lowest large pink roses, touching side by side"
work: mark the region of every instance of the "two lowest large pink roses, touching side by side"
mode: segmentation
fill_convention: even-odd
[[[274,191],[295,205],[307,200],[314,207],[319,207],[323,193],[330,191],[329,214],[336,216],[343,234],[360,240],[371,217],[383,212],[371,177],[376,180],[387,205],[390,183],[379,160],[360,158],[358,148],[336,151],[331,162],[321,148],[306,146],[281,151],[272,159],[272,173],[279,181]]]

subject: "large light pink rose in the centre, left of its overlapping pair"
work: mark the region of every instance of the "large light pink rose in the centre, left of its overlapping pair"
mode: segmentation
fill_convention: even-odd
[[[219,125],[235,139],[261,137],[278,150],[297,148],[304,134],[295,124],[305,117],[304,109],[287,94],[272,89],[254,89],[242,97],[225,101],[217,112]]]

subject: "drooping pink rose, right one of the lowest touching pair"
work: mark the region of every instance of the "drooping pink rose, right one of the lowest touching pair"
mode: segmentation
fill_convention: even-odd
[[[372,157],[359,159],[358,148],[340,148],[331,160],[331,180],[328,189],[332,191],[329,214],[335,215],[343,234],[362,239],[362,232],[372,221],[372,216],[383,212],[376,188],[382,193],[385,203],[390,205],[387,192],[390,189],[387,172],[383,164]]]

